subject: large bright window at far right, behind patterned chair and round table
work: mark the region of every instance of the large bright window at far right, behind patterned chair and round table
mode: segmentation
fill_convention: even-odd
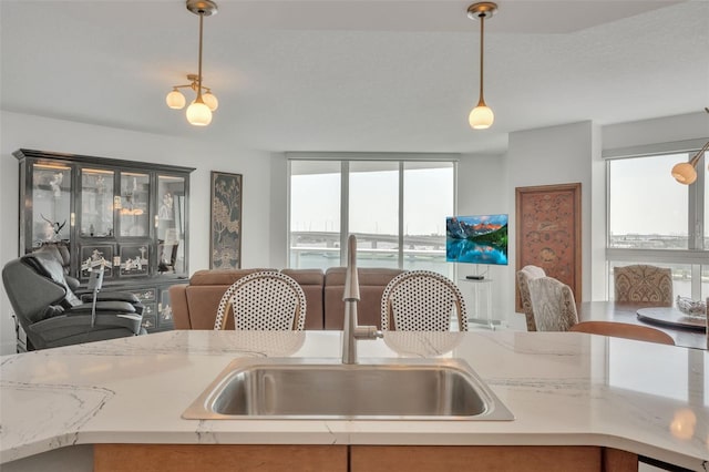
[[[681,185],[670,175],[696,152],[609,160],[608,280],[613,268],[651,264],[672,269],[675,296],[709,297],[709,188],[706,158],[697,181]]]

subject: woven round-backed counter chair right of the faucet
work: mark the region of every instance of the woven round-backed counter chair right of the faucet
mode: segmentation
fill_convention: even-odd
[[[467,331],[463,295],[449,278],[430,270],[411,270],[394,277],[381,297],[381,329],[449,331],[455,308],[460,331]]]

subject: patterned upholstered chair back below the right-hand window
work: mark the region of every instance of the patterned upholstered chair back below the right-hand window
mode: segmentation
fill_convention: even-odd
[[[614,267],[613,279],[616,302],[671,307],[675,301],[669,268],[645,264]]]

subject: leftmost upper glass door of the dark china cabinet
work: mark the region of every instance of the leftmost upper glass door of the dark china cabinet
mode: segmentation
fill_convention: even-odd
[[[69,243],[72,167],[54,163],[32,166],[32,247]]]

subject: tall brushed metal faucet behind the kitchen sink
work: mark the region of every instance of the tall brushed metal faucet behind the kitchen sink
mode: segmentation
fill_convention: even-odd
[[[357,304],[359,302],[359,278],[357,276],[357,238],[350,235],[347,240],[347,273],[345,275],[345,327],[342,328],[342,363],[357,363],[357,340],[377,339],[382,334],[376,326],[357,325]]]

